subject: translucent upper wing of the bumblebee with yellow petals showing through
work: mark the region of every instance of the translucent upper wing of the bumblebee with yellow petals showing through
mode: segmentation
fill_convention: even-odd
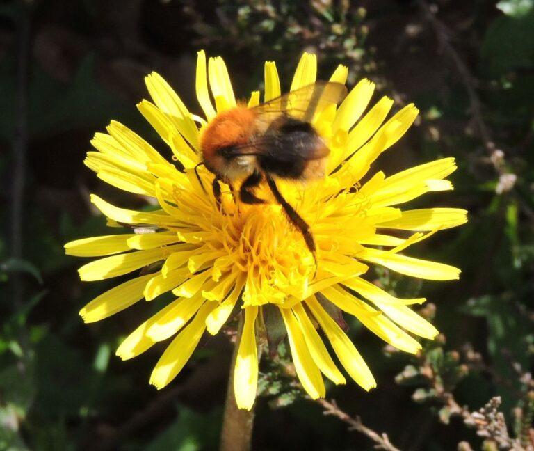
[[[316,113],[321,113],[330,104],[341,103],[347,95],[344,84],[334,81],[316,81],[314,84],[276,97],[269,102],[254,107],[259,118],[264,116],[266,122],[277,115],[286,114],[302,122],[312,122]]]

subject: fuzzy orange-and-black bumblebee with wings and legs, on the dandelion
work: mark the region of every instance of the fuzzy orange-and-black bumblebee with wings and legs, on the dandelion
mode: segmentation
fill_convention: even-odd
[[[238,105],[213,118],[200,139],[200,164],[215,175],[213,194],[218,203],[219,181],[234,184],[243,180],[238,196],[246,204],[266,202],[254,193],[259,184],[266,182],[315,258],[316,244],[309,225],[284,199],[275,179],[305,181],[325,177],[330,149],[312,120],[346,95],[343,84],[317,81],[253,108]]]

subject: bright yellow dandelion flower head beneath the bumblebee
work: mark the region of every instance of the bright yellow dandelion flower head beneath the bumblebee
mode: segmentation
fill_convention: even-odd
[[[316,70],[316,56],[304,54],[291,90],[314,83]],[[347,68],[340,65],[330,80],[344,84],[346,77]],[[213,195],[203,189],[210,186],[213,174],[200,168],[199,177],[195,175],[204,127],[218,113],[236,106],[223,59],[209,58],[207,63],[204,52],[198,54],[196,93],[204,117],[192,114],[159,74],[147,76],[146,84],[152,102],[143,100],[138,109],[168,145],[169,155],[163,157],[113,121],[107,133],[95,134],[91,143],[96,151],[88,152],[85,163],[114,187],[152,196],[159,204],[154,211],[135,211],[93,194],[92,203],[107,217],[108,225],[149,226],[153,232],[90,237],[65,245],[67,254],[99,257],[79,269],[81,280],[158,268],[97,296],[80,312],[85,322],[114,315],[143,298],[151,301],[165,292],[175,296],[127,336],[118,356],[138,356],[154,343],[174,337],[150,377],[150,383],[163,388],[186,365],[206,330],[215,335],[232,312],[243,311],[234,392],[237,405],[251,409],[258,378],[257,335],[267,310],[284,323],[296,373],[314,399],[325,396],[323,375],[334,383],[346,383],[339,363],[364,390],[375,387],[364,358],[330,315],[333,306],[354,315],[389,345],[410,353],[421,348],[412,335],[428,339],[437,335],[435,327],[410,308],[425,299],[398,299],[363,277],[370,264],[428,280],[452,280],[460,274],[448,264],[404,252],[438,230],[464,223],[467,212],[399,207],[429,191],[452,189],[446,177],[456,168],[454,159],[431,161],[394,175],[369,174],[373,161],[414,122],[418,110],[413,104],[386,120],[393,101],[382,97],[370,107],[375,86],[364,79],[341,104],[314,116],[314,127],[330,148],[327,175],[306,187],[278,183],[286,200],[312,228],[316,266],[280,205],[274,201],[244,205],[221,184],[222,207],[218,207]],[[278,95],[277,69],[267,62],[263,98],[268,101]],[[259,100],[260,93],[254,92],[248,105],[255,106]],[[366,182],[362,182],[364,176]],[[269,198],[267,189],[260,190],[263,198]],[[404,231],[402,238],[399,230]]]

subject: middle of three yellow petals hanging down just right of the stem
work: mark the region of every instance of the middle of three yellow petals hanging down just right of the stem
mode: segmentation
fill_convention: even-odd
[[[332,382],[340,384],[346,383],[343,374],[337,369],[332,357],[328,354],[328,351],[319,337],[319,334],[315,330],[312,321],[309,319],[307,312],[302,308],[302,303],[298,303],[293,306],[293,313],[298,320],[300,325],[300,330],[304,335],[306,345],[309,349],[310,354],[319,369],[325,374],[325,376],[330,379]]]

